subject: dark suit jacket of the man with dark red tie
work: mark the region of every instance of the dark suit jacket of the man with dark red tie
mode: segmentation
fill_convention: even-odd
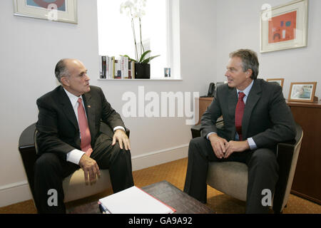
[[[201,118],[201,133],[215,132],[226,140],[235,140],[236,88],[219,86],[213,102]],[[218,131],[216,120],[223,115],[224,128]],[[245,103],[242,120],[243,138],[253,138],[258,148],[275,150],[277,142],[295,138],[295,121],[285,103],[282,88],[275,83],[256,79]]]

